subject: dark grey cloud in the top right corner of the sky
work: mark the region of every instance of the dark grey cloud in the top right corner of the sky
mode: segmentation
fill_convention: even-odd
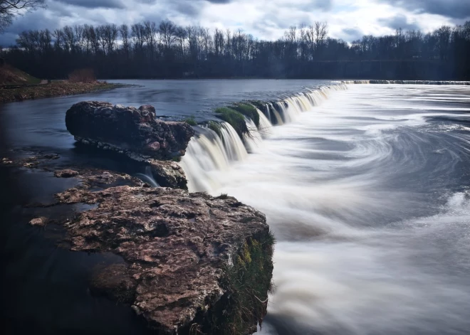
[[[450,18],[469,18],[470,0],[380,0],[419,13],[440,14]]]

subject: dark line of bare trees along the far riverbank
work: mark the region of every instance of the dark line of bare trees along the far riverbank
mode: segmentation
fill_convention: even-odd
[[[470,80],[470,21],[352,43],[330,38],[325,22],[291,26],[278,41],[172,21],[65,26],[23,31],[1,55],[39,78],[93,68],[99,78]]]

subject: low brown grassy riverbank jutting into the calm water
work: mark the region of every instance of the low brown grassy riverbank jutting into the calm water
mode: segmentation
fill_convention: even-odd
[[[41,97],[60,97],[63,95],[78,95],[83,93],[111,90],[121,87],[120,84],[110,84],[96,81],[93,83],[71,83],[68,80],[54,81],[46,85],[31,85],[23,87],[1,87],[0,102],[14,102],[38,99]]]

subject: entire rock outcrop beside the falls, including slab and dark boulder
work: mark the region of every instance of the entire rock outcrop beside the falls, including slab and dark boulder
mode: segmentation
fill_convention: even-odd
[[[273,235],[263,213],[235,198],[180,189],[186,186],[184,172],[170,158],[184,154],[192,127],[160,121],[151,106],[102,102],[75,105],[66,123],[82,145],[148,164],[160,185],[174,187],[152,188],[110,170],[59,167],[55,154],[0,159],[77,181],[53,203],[30,208],[81,204],[79,212],[53,220],[66,228],[60,245],[122,257],[93,271],[90,292],[130,304],[157,334],[254,333],[271,290]],[[30,224],[50,222],[38,212]]]

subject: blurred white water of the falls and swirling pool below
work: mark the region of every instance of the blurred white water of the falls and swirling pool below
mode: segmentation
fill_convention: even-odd
[[[284,125],[263,119],[269,134],[246,147],[228,124],[223,142],[192,140],[189,189],[266,213],[278,244],[263,334],[468,334],[470,89],[345,88],[268,106]]]

